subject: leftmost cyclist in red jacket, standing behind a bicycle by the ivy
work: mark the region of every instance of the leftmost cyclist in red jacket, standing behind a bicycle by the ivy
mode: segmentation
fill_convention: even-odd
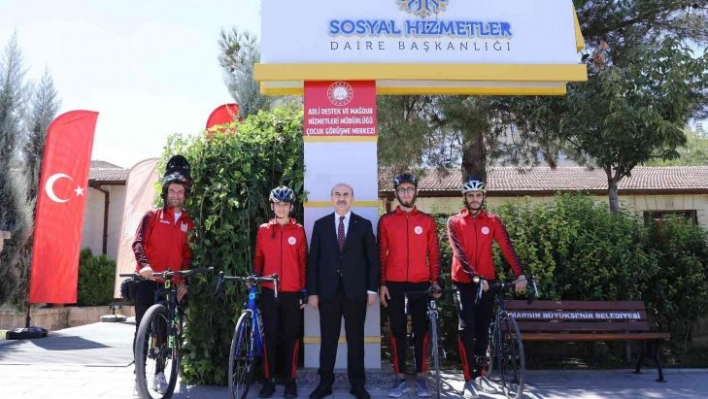
[[[186,270],[192,262],[188,234],[194,228],[194,222],[184,210],[184,202],[189,197],[191,185],[189,162],[181,155],[170,158],[162,178],[164,205],[145,213],[135,233],[135,272],[145,279],[138,283],[135,290],[136,334],[145,312],[155,304],[155,292],[162,283],[153,278],[153,273],[164,272],[168,268]],[[177,300],[181,301],[187,294],[187,285],[177,277],[174,282],[177,283]],[[156,370],[152,381],[153,390],[160,393],[165,393],[168,385],[163,371]],[[133,393],[133,396],[138,397],[137,389],[134,389]]]

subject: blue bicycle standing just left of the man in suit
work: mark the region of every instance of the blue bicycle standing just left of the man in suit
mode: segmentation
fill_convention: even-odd
[[[224,276],[219,273],[217,294],[221,294],[225,281],[241,281],[249,285],[248,299],[244,303],[241,316],[239,316],[231,338],[229,352],[229,397],[232,399],[245,399],[253,382],[253,368],[256,358],[263,357],[265,337],[261,311],[257,306],[258,285],[264,282],[273,283],[273,293],[278,298],[278,275],[259,277],[251,275]]]

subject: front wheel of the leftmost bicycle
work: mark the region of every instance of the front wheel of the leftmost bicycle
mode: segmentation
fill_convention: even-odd
[[[153,305],[140,322],[135,339],[135,376],[141,398],[169,399],[177,384],[179,350],[177,337],[168,336],[168,313],[164,305]],[[161,391],[159,374],[167,387]]]

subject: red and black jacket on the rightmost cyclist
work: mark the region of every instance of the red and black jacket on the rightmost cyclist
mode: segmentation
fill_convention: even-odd
[[[495,214],[481,211],[472,216],[467,208],[447,220],[447,234],[452,247],[452,281],[471,282],[471,276],[496,279],[492,242],[496,241],[518,277],[524,274],[521,261],[511,244],[509,233]],[[471,274],[470,274],[471,273]]]

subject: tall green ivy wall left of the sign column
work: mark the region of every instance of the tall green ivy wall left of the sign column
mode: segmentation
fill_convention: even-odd
[[[193,267],[216,273],[251,271],[258,226],[272,217],[268,196],[284,184],[297,194],[302,220],[304,161],[302,109],[260,111],[242,123],[224,126],[207,139],[172,136],[161,165],[173,154],[184,155],[194,180],[186,209],[195,222]],[[164,166],[162,166],[164,169]],[[245,300],[244,286],[225,286],[226,301],[214,295],[216,274],[189,282],[189,309],[182,355],[184,377],[191,383],[226,384],[231,335]]]

